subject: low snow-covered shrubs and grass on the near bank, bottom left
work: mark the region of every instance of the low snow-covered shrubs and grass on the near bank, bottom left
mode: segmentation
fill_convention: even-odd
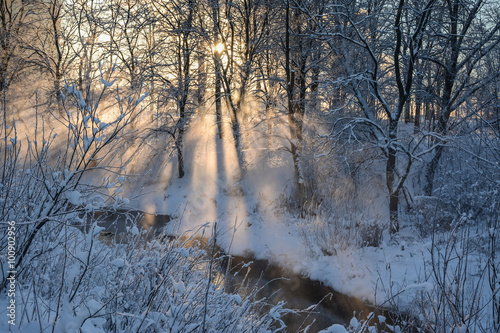
[[[67,222],[67,221],[66,221]],[[67,224],[67,223],[66,223]],[[19,276],[18,325],[55,332],[272,332],[287,312],[252,293],[228,294],[219,261],[182,240],[111,246],[75,227],[44,228]],[[210,250],[210,249],[208,249]],[[212,262],[212,269],[209,269]],[[212,274],[212,281],[209,281]]]

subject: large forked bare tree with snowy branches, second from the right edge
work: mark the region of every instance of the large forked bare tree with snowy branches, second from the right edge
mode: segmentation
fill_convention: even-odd
[[[387,11],[391,2],[369,2],[360,11],[352,3],[339,1],[331,29],[316,19],[321,35],[344,67],[345,77],[339,83],[349,89],[363,115],[344,119],[347,123],[339,133],[367,129],[369,136],[364,140],[373,140],[384,154],[391,233],[399,230],[399,197],[416,150],[416,146],[405,148],[399,125],[412,93],[418,71],[415,66],[435,2],[417,6],[400,0],[391,15]],[[310,13],[309,17],[315,16]]]

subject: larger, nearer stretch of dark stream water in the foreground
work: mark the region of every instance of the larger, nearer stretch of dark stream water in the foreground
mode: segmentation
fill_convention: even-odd
[[[252,262],[248,266],[249,271],[247,268],[241,269],[249,262]],[[240,270],[240,273],[236,278],[233,274],[227,274],[228,285],[233,283],[237,289],[242,277],[246,275],[250,286],[261,288],[257,299],[266,297],[271,304],[285,301],[287,308],[297,310],[297,314],[289,314],[284,318],[288,332],[299,332],[307,326],[310,326],[308,332],[318,332],[333,324],[348,325],[354,313],[358,319],[366,319],[374,313],[370,326],[377,326],[380,332],[390,330],[385,324],[379,323],[379,315],[387,318],[387,323],[393,323],[393,315],[386,310],[376,309],[357,298],[339,293],[319,281],[293,274],[267,260],[256,260],[250,254],[245,257],[232,256],[230,267],[232,271]],[[309,311],[303,311],[308,308]]]

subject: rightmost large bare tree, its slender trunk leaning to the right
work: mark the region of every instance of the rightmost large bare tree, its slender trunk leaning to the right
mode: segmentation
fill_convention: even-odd
[[[437,101],[437,123],[433,130],[442,138],[439,140],[442,144],[436,147],[426,169],[426,195],[433,193],[434,175],[452,114],[476,91],[498,77],[498,73],[487,77],[475,75],[482,60],[500,43],[500,20],[495,6],[483,0],[447,0],[432,20],[428,38],[435,41],[434,47],[421,58],[436,66],[436,72],[428,74],[440,79],[439,85],[430,86],[428,90]]]

